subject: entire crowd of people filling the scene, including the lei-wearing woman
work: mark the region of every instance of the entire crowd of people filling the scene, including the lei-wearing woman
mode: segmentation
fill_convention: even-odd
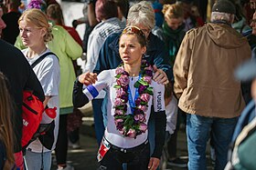
[[[73,27],[54,0],[20,5],[0,6],[0,169],[49,170],[55,151],[57,169],[74,170],[68,147],[90,101],[100,170],[162,169],[164,148],[168,165],[206,170],[208,141],[215,169],[256,168],[255,0],[86,0]],[[22,148],[27,89],[56,107],[50,146]]]

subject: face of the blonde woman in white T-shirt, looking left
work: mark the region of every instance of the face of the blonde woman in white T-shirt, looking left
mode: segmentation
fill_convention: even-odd
[[[27,23],[25,20],[21,20],[19,22],[19,35],[23,45],[32,47],[44,44],[46,31],[43,28],[37,28],[35,25]]]

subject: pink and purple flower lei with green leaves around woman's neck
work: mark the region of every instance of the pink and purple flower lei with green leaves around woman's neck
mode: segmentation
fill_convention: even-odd
[[[141,135],[147,129],[147,125],[144,124],[145,112],[148,109],[148,102],[150,95],[153,95],[153,87],[150,87],[153,68],[148,62],[142,60],[141,66],[141,78],[134,84],[135,88],[138,88],[139,96],[134,102],[135,107],[133,114],[126,115],[127,102],[128,102],[128,87],[129,87],[129,74],[124,70],[123,64],[116,68],[116,98],[114,101],[114,123],[117,130],[123,135],[131,138],[136,138],[137,135]],[[131,106],[132,107],[132,106]]]

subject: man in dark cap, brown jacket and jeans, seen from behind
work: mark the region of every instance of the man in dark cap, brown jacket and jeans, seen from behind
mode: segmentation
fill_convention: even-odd
[[[185,35],[174,65],[178,106],[187,113],[188,169],[207,169],[209,132],[216,150],[215,169],[223,169],[244,100],[236,66],[251,57],[245,37],[230,25],[235,6],[229,0],[213,5],[211,22]]]

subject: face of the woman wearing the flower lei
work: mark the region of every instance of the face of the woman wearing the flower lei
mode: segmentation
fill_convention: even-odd
[[[119,54],[124,64],[133,65],[141,63],[146,47],[138,42],[136,35],[123,34],[119,42]]]

